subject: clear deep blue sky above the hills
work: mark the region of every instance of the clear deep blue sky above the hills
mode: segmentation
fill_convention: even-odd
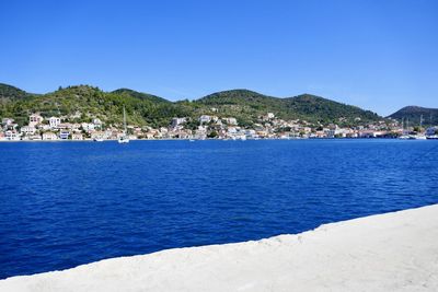
[[[438,1],[0,1],[0,82],[438,107]]]

